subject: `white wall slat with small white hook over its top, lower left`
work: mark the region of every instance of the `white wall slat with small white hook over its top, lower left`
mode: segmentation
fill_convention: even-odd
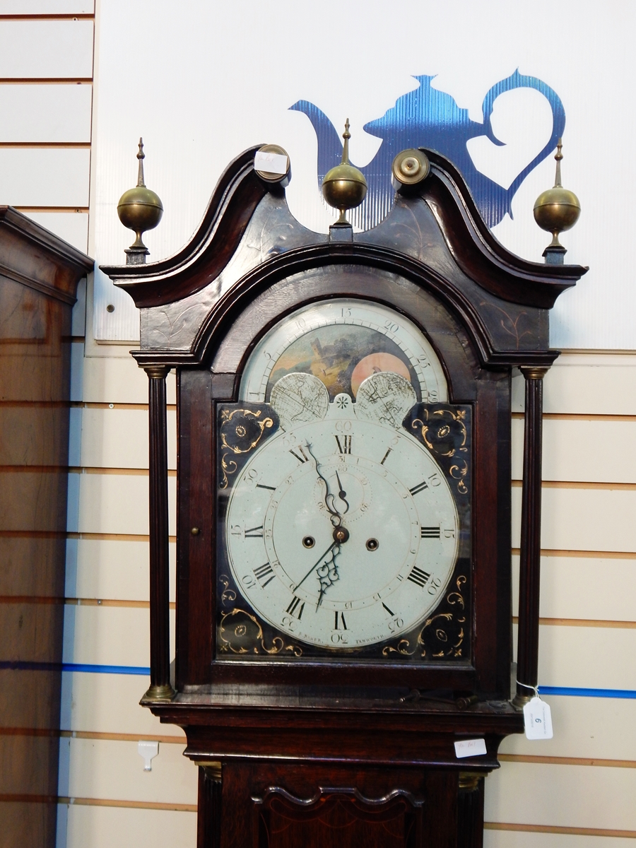
[[[144,772],[137,742],[71,739],[69,795],[196,804],[198,767],[184,748],[160,743],[152,771]]]

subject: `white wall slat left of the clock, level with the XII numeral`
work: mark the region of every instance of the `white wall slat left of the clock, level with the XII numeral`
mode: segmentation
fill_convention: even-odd
[[[145,372],[144,379],[148,380]],[[81,464],[87,467],[148,468],[148,411],[82,410]],[[176,411],[168,416],[168,467],[176,468]]]

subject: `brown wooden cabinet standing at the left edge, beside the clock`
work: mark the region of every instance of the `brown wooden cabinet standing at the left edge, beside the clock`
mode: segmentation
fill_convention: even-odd
[[[92,259],[0,206],[0,842],[53,848],[71,310]]]

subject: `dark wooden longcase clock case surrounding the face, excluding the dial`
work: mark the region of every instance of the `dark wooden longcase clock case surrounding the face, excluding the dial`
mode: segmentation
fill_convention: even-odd
[[[499,767],[501,739],[522,731],[510,704],[511,372],[522,367],[530,398],[522,558],[532,577],[541,377],[558,355],[548,314],[584,269],[509,254],[455,167],[428,151],[430,175],[399,192],[379,226],[310,232],[289,213],[283,189],[257,176],[255,149],[226,170],[181,253],[103,269],[141,309],[133,355],[150,384],[152,685],[142,703],[184,728],[186,755],[200,767],[198,848],[481,845],[482,778]],[[336,297],[408,315],[444,365],[449,400],[471,404],[470,652],[461,663],[217,659],[216,409],[237,400],[243,366],[276,321]],[[168,654],[170,368],[178,412],[176,693]],[[520,651],[532,678],[538,579],[528,579]],[[458,759],[458,739],[485,739],[487,753]]]

